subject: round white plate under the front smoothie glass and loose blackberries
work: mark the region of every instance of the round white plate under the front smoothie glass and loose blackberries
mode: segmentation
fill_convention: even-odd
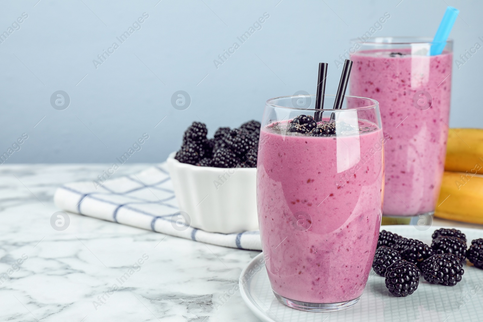
[[[435,229],[419,231],[412,225],[387,225],[385,229],[407,238],[431,244]],[[447,227],[446,227],[447,228]],[[483,238],[483,230],[458,228],[471,240]],[[455,286],[427,283],[421,276],[418,289],[407,297],[395,297],[384,284],[384,277],[371,269],[369,280],[358,303],[339,312],[314,313],[288,308],[272,293],[263,253],[257,255],[241,272],[241,297],[264,322],[333,322],[333,321],[483,321],[483,270],[465,266],[463,279]],[[252,275],[250,275],[252,274]],[[243,277],[246,276],[245,280]]]

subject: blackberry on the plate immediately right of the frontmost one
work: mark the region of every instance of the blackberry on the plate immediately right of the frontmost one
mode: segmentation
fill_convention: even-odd
[[[424,279],[432,284],[455,286],[465,273],[459,258],[453,254],[438,254],[421,264]]]

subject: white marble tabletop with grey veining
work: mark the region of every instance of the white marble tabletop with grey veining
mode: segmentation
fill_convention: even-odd
[[[107,166],[0,165],[0,321],[258,321],[239,291],[225,295],[258,252],[75,214],[66,230],[52,228],[56,187]]]

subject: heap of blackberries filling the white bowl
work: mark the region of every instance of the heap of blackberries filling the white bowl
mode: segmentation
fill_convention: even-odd
[[[252,120],[239,128],[219,127],[208,139],[204,123],[193,122],[183,134],[175,159],[200,167],[256,168],[260,122]]]

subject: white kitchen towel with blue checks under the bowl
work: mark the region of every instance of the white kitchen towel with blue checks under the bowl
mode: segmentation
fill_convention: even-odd
[[[172,215],[178,206],[166,163],[107,180],[102,185],[92,181],[65,184],[57,189],[54,201],[62,210],[166,235],[225,247],[262,249],[258,231],[217,234],[192,227],[174,229],[172,222],[177,217]]]

